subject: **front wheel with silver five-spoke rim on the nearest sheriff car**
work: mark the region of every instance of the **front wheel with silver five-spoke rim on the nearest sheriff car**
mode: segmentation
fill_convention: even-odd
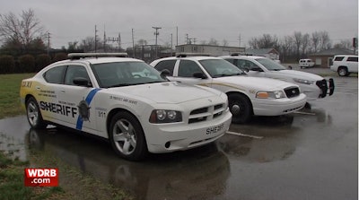
[[[120,157],[130,161],[140,161],[148,152],[142,126],[136,117],[125,111],[112,117],[109,143]]]

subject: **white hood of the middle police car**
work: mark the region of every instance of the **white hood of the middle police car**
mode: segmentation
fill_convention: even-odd
[[[287,83],[276,79],[246,75],[215,78],[213,84],[223,84],[233,88],[252,89],[256,91],[276,91],[296,86],[293,83]]]

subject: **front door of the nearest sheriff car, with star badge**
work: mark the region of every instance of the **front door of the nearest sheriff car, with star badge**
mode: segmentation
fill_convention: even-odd
[[[74,79],[83,78],[89,81],[88,85],[76,85]],[[65,74],[65,83],[59,88],[58,102],[66,109],[64,113],[68,126],[78,130],[95,129],[96,119],[92,100],[99,89],[92,87],[90,76],[83,65],[68,65]]]

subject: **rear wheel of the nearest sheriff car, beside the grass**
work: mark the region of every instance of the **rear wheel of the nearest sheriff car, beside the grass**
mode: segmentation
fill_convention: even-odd
[[[38,102],[33,97],[26,101],[26,117],[28,118],[29,124],[32,128],[43,129],[48,126],[48,124],[42,119]]]

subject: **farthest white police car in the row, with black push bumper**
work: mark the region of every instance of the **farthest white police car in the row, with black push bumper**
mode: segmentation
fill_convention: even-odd
[[[223,59],[247,71],[250,76],[267,77],[297,84],[307,95],[308,100],[318,100],[332,95],[334,80],[324,79],[320,75],[296,70],[287,70],[285,66],[276,63],[267,57],[257,56],[225,56]]]

